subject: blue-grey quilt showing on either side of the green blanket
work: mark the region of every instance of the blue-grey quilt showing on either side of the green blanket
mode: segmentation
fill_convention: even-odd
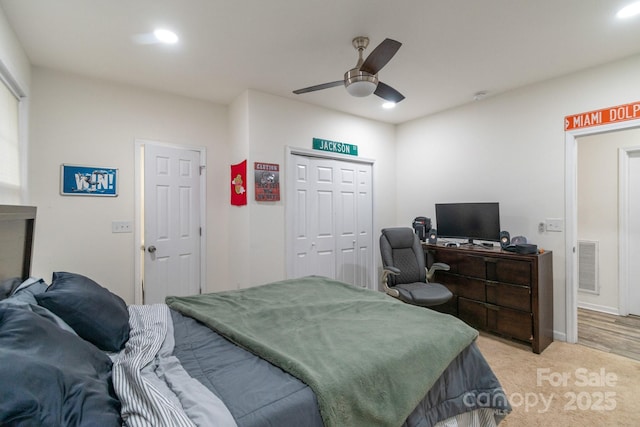
[[[309,386],[197,320],[176,311],[171,314],[174,354],[189,375],[227,404],[239,427],[323,425]],[[486,405],[487,400],[492,405]],[[473,342],[445,369],[402,426],[492,426],[509,411],[500,383]],[[460,413],[466,415],[457,417]]]

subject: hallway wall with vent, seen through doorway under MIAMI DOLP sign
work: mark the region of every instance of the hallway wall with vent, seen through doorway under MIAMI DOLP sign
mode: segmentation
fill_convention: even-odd
[[[599,242],[599,295],[579,292],[581,307],[618,313],[618,149],[640,147],[640,129],[578,138],[578,240]],[[636,183],[640,185],[640,183]]]

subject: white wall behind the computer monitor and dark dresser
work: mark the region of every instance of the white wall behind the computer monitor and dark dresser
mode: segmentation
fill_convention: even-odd
[[[565,217],[564,117],[640,100],[638,75],[635,56],[398,126],[398,221],[434,218],[437,202],[500,202],[503,229],[553,251],[562,336],[565,233],[537,225]]]

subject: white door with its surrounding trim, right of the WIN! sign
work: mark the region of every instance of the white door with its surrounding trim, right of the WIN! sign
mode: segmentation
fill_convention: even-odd
[[[136,140],[136,304],[204,287],[205,159],[204,148]]]

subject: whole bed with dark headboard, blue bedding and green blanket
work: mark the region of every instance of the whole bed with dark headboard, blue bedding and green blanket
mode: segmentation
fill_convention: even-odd
[[[0,425],[462,426],[510,411],[461,321],[324,277],[129,305],[30,277],[0,206]]]

